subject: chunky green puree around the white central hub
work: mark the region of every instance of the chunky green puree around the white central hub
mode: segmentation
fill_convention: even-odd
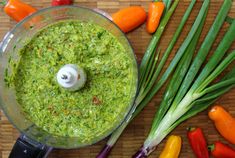
[[[132,60],[104,28],[59,22],[41,30],[19,53],[11,82],[26,116],[38,127],[89,141],[123,118],[132,97]],[[87,82],[81,90],[58,85],[56,74],[65,64],[85,69]]]

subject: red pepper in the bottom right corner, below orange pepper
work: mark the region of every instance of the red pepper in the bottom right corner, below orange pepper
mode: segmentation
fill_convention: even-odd
[[[214,158],[235,158],[235,150],[219,141],[208,146]]]

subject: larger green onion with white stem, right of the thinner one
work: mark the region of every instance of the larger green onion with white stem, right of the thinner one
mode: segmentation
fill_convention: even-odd
[[[203,2],[197,19],[200,15],[203,18],[201,18],[201,21],[195,20],[195,23],[199,23],[199,27],[196,29],[194,37],[187,45],[183,56],[180,58],[180,62],[174,70],[154,117],[149,135],[141,149],[133,156],[134,158],[147,157],[175,127],[208,108],[222,94],[235,86],[234,66],[220,81],[212,84],[214,79],[235,60],[235,50],[226,55],[226,52],[235,40],[234,20],[231,21],[228,31],[209,61],[205,64],[202,71],[199,72],[226,19],[231,5],[231,0],[224,1],[199,51],[194,60],[191,61],[208,11],[209,1]],[[187,40],[186,38],[185,41]],[[171,64],[174,63],[174,59]]]

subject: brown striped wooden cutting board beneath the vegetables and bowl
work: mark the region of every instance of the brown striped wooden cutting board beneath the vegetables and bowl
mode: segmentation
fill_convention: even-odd
[[[31,4],[37,9],[41,9],[44,7],[50,6],[50,0],[24,0],[26,3]],[[75,5],[86,6],[89,8],[99,8],[107,11],[108,13],[113,13],[120,8],[132,6],[132,5],[141,5],[146,10],[148,8],[150,0],[75,0]],[[161,50],[164,50],[168,45],[174,31],[176,30],[181,17],[183,16],[187,6],[189,5],[190,0],[181,0],[173,17],[171,18],[169,24],[167,25],[167,29],[161,39],[159,47]],[[203,41],[206,33],[208,32],[217,12],[222,4],[223,0],[211,0],[209,13],[207,16],[206,25],[204,26],[203,33],[199,42],[199,46]],[[200,9],[202,1],[197,2],[195,5],[193,12],[184,28],[184,31],[179,38],[172,55],[170,56],[165,68],[171,61],[174,53],[179,48],[180,44],[184,40],[188,31],[191,28],[191,25],[194,22],[196,15]],[[230,11],[230,16],[235,17],[235,1],[233,1],[233,6]],[[7,15],[0,11],[0,39],[7,33],[16,23],[11,20]],[[219,41],[223,37],[223,34],[227,30],[228,25],[225,24],[218,35],[218,38],[212,48],[213,52],[218,45]],[[146,49],[146,46],[149,42],[150,35],[145,31],[145,25],[136,29],[135,31],[129,33],[128,38],[130,39],[135,53],[138,57],[138,61],[141,60],[143,53]],[[199,48],[198,46],[198,48]],[[197,48],[197,49],[198,49]],[[235,43],[233,44],[231,50],[235,49]],[[234,63],[233,63],[234,64]],[[144,139],[146,138],[153,115],[156,111],[156,107],[159,105],[162,97],[164,88],[154,97],[154,99],[149,103],[149,105],[143,110],[143,112],[127,127],[119,141],[117,142],[115,148],[113,149],[110,158],[129,158],[132,154],[137,151],[137,149],[141,146]],[[222,96],[216,104],[223,105],[229,112],[235,117],[235,89],[231,90],[229,93]],[[200,113],[199,115],[189,119],[188,121],[182,123],[179,127],[177,127],[171,134],[180,135],[183,139],[183,147],[180,154],[181,158],[193,158],[192,150],[189,147],[188,140],[186,137],[186,127],[188,126],[198,126],[204,130],[205,136],[209,143],[213,143],[216,140],[221,140],[227,143],[215,130],[212,122],[209,120],[207,116],[208,110]],[[0,112],[0,158],[7,158],[9,152],[18,137],[18,131],[9,123],[7,118],[4,116],[3,112]],[[101,150],[105,141],[101,141],[95,145],[90,147],[82,148],[82,149],[74,149],[74,150],[62,150],[55,149],[49,155],[49,158],[94,158],[97,153]],[[160,151],[162,151],[164,147],[165,141],[163,141],[156,151],[153,152],[150,158],[158,157]],[[235,148],[235,146],[233,146]]]

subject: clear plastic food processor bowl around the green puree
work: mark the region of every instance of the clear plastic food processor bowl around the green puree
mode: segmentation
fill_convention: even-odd
[[[132,60],[133,68],[132,72],[130,72],[132,83],[131,91],[128,92],[131,94],[131,99],[129,105],[126,106],[125,113],[120,115],[120,121],[111,125],[111,130],[105,131],[102,136],[98,136],[88,142],[80,142],[76,137],[56,136],[37,127],[33,122],[28,120],[22,112],[21,106],[17,103],[14,88],[8,88],[4,83],[5,70],[8,68],[8,73],[12,73],[9,60],[20,60],[18,55],[19,50],[42,28],[64,20],[92,22],[105,28],[118,39]],[[138,68],[133,49],[128,39],[110,19],[88,8],[59,6],[37,11],[19,22],[5,35],[0,46],[0,76],[0,105],[10,122],[23,134],[23,137],[27,137],[27,139],[32,140],[32,142],[40,142],[47,146],[70,149],[94,144],[111,134],[112,131],[122,123],[134,103],[137,92]]]

